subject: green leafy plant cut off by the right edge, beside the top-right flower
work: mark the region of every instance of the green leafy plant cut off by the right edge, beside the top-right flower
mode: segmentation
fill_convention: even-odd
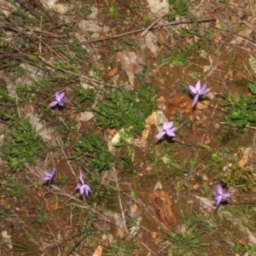
[[[223,107],[228,107],[229,113],[225,116],[227,125],[235,125],[244,128],[247,125],[256,124],[256,79],[248,85],[251,95],[233,97],[229,91],[227,98],[221,103]]]

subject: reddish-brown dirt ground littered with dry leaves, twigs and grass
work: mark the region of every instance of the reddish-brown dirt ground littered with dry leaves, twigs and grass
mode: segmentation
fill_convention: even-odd
[[[256,253],[255,190],[245,185],[255,176],[255,128],[226,125],[221,105],[229,91],[251,95],[256,3],[166,2],[158,13],[146,0],[0,1],[0,89],[15,99],[9,107],[1,93],[2,113],[14,114],[1,115],[1,147],[18,119],[44,141],[22,170],[1,159],[0,255]],[[197,80],[211,92],[193,108]],[[121,129],[101,125],[98,106],[145,84],[155,91],[151,118],[144,131],[125,127],[134,134],[116,146]],[[55,91],[65,91],[63,108],[49,108]],[[157,141],[166,120],[177,137]],[[99,141],[88,146],[91,136]],[[75,189],[80,170],[89,196]],[[218,183],[231,198],[216,207]]]

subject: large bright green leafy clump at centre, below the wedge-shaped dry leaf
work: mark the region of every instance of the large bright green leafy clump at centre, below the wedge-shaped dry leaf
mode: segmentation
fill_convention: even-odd
[[[109,92],[96,106],[96,120],[102,129],[130,130],[132,134],[143,131],[145,119],[152,113],[155,90],[139,85],[137,90]]]

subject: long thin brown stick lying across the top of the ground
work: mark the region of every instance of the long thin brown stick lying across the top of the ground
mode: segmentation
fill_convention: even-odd
[[[150,29],[156,29],[156,28],[160,28],[160,27],[164,27],[164,26],[175,26],[175,25],[180,25],[180,24],[192,24],[192,23],[202,23],[202,22],[212,22],[212,21],[216,21],[216,18],[207,18],[207,19],[203,19],[203,20],[181,20],[181,21],[173,21],[173,22],[168,22],[166,24],[161,24],[161,25],[157,25],[157,26],[153,26]],[[104,37],[104,38],[96,38],[96,39],[92,39],[89,40],[87,42],[84,42],[83,44],[88,44],[88,43],[96,43],[96,42],[101,42],[101,41],[105,41],[105,40],[112,40],[112,39],[116,39],[116,38],[123,38],[125,36],[129,36],[132,34],[137,34],[139,32],[143,32],[145,30],[145,28],[139,28],[137,30],[132,30],[130,32],[125,32],[125,33],[121,33],[118,35],[114,35],[112,37]]]

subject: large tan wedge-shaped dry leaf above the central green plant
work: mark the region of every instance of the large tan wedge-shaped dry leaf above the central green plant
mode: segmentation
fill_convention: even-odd
[[[132,89],[134,89],[135,74],[143,71],[143,59],[133,51],[119,51],[117,60],[121,62],[121,68],[127,74]]]

